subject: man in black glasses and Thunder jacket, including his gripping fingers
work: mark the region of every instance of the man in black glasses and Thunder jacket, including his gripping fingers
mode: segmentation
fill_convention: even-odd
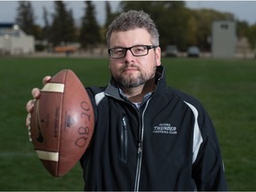
[[[158,38],[141,11],[108,28],[111,81],[86,88],[96,122],[81,158],[85,190],[228,190],[212,121],[196,99],[166,86]]]

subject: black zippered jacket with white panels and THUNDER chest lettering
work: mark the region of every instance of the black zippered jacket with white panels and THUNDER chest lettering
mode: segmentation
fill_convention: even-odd
[[[212,121],[191,96],[166,86],[140,109],[112,79],[88,87],[95,114],[90,148],[81,158],[85,190],[228,190]]]

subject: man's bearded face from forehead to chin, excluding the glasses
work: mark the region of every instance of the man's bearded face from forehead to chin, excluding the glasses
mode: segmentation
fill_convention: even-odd
[[[135,45],[156,45],[151,43],[150,35],[144,28],[114,32],[110,36],[110,48],[127,48]],[[127,50],[124,58],[109,60],[111,75],[124,87],[137,87],[152,79],[156,66],[161,65],[161,49],[148,50],[148,55],[135,57]]]

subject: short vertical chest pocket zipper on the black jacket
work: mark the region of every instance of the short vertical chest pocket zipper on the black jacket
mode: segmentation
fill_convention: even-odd
[[[128,136],[127,136],[127,121],[126,116],[122,117],[122,130],[121,130],[121,161],[127,163],[127,150],[128,150]]]

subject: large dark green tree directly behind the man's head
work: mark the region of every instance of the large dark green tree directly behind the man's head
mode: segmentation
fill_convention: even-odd
[[[131,9],[148,12],[160,33],[160,45],[176,44],[179,48],[186,44],[188,13],[183,1],[123,1],[122,11]]]

